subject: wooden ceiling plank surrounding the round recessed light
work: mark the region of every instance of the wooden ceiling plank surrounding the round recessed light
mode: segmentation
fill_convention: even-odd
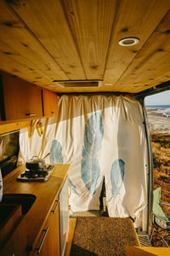
[[[116,19],[105,68],[104,81],[106,83],[115,84],[129,63],[131,61],[133,63],[133,58],[156,29],[169,8],[170,2],[167,0],[117,1]],[[131,47],[120,46],[119,40],[127,37],[139,38],[140,42]]]

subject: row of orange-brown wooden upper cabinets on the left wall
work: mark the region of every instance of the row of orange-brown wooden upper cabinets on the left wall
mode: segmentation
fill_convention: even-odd
[[[57,95],[25,80],[1,75],[0,121],[41,119],[57,115]]]

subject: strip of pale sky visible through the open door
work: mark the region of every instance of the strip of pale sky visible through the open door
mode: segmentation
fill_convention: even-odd
[[[145,105],[170,105],[170,90],[145,97]]]

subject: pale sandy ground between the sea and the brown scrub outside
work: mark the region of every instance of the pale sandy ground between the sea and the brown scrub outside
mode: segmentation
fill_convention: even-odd
[[[156,111],[156,108],[147,108],[150,131],[170,134],[170,117],[164,117],[161,113],[157,113]]]

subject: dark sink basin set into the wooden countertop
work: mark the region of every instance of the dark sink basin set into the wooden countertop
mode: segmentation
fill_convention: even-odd
[[[36,201],[36,195],[32,194],[3,194],[1,204],[21,205],[22,215],[25,215]]]

